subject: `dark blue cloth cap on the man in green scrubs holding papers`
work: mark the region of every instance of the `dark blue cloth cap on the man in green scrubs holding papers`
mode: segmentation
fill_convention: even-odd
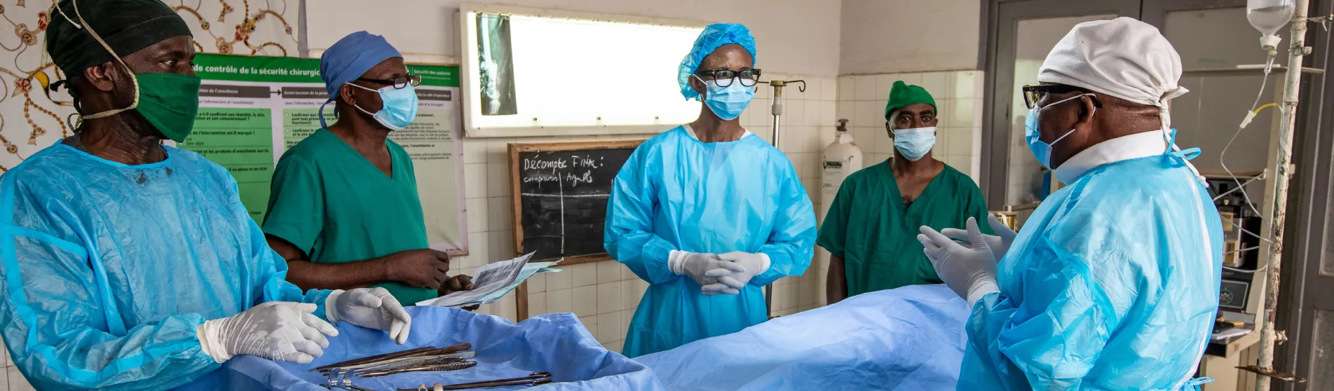
[[[366,71],[371,71],[384,60],[402,56],[399,49],[390,45],[390,41],[384,40],[383,36],[370,32],[359,31],[338,40],[324,51],[324,55],[320,55],[320,79],[324,79],[324,89],[329,93],[329,100],[325,100],[324,104],[338,99],[343,84],[362,77]],[[324,123],[323,104],[320,105],[320,127],[328,127]]]

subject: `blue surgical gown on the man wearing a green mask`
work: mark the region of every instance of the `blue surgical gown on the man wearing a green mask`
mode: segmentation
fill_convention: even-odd
[[[0,176],[0,327],[39,390],[163,390],[219,367],[195,328],[272,300],[320,304],[185,149],[143,165],[56,144]]]

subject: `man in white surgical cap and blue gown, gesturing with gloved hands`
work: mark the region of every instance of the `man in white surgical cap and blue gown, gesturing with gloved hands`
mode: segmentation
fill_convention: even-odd
[[[1175,151],[1181,57],[1154,27],[1077,25],[1025,87],[1026,136],[1067,187],[1015,235],[922,227],[972,306],[958,390],[1182,390],[1218,308],[1222,224]],[[960,246],[951,239],[964,240]],[[999,264],[996,263],[999,260]]]

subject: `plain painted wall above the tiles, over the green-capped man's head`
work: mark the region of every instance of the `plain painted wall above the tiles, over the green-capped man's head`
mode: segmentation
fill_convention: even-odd
[[[839,75],[978,69],[979,0],[843,0]]]

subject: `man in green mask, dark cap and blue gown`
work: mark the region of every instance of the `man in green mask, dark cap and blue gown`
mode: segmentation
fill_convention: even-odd
[[[285,282],[231,175],[161,145],[189,135],[200,85],[169,7],[60,1],[47,51],[81,121],[0,176],[0,327],[36,388],[199,386],[235,355],[309,363],[338,334],[325,319],[406,340],[392,299]]]

